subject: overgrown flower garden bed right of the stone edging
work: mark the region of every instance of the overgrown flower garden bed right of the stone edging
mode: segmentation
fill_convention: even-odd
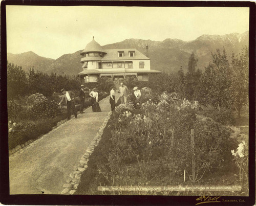
[[[116,108],[98,146],[89,157],[88,168],[81,176],[76,194],[248,195],[246,174],[239,176],[239,168],[232,161],[232,154],[240,159],[239,150],[247,144],[248,136],[241,138],[238,130],[233,134],[229,127],[212,118],[204,118],[202,112],[198,118],[195,112],[200,112],[189,102],[183,102],[182,108],[179,108],[173,106],[176,103],[172,96],[165,94],[160,102],[153,102],[152,98],[150,96],[136,104]],[[198,172],[195,180],[190,179],[190,128],[195,129],[196,166],[202,164],[200,167],[205,169]],[[231,150],[236,150],[238,143],[243,141],[246,143],[240,144],[237,153],[231,154]],[[218,147],[215,148],[216,145]],[[244,150],[243,154],[243,163],[247,164],[248,154]],[[241,181],[241,191],[98,191],[98,186],[230,186],[241,185]]]

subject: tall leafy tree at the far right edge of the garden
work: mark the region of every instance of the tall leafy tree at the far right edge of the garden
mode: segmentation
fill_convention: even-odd
[[[230,85],[230,99],[238,110],[238,117],[241,117],[241,109],[248,102],[249,93],[249,50],[242,49],[240,57],[232,54],[232,76]]]

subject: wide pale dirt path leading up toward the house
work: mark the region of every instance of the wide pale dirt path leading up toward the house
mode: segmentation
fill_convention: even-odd
[[[109,97],[99,102],[102,112],[85,110],[9,157],[10,194],[60,194],[110,111]]]

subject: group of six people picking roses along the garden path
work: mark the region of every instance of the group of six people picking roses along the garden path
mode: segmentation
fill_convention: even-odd
[[[84,100],[86,98],[86,94],[89,94],[89,96],[91,97],[91,102],[92,102],[92,110],[93,112],[100,112],[100,106],[99,106],[99,90],[97,88],[93,88],[92,90],[88,87],[84,87],[84,85],[82,84],[81,89],[78,92],[78,97],[80,99],[80,113],[84,113],[83,112],[83,108],[84,108]],[[135,86],[133,88],[133,95],[134,98],[139,99],[141,97],[141,93],[140,90],[138,89],[137,86]],[[110,90],[110,104],[111,104],[111,110],[113,111],[116,107],[116,100],[115,100],[115,86],[111,87]],[[75,118],[77,118],[77,112],[75,109],[75,103],[74,103],[74,99],[75,99],[75,94],[73,93],[73,91],[67,91],[66,89],[61,89],[61,92],[63,94],[61,101],[58,103],[58,105],[60,105],[62,102],[66,102],[67,104],[67,111],[68,111],[68,120],[70,120],[71,117],[71,113],[75,116]],[[120,93],[120,101],[123,104],[127,103],[127,96],[129,94],[129,89],[127,88],[127,86],[125,86],[123,84],[123,82],[120,83],[120,87],[118,90],[118,93]]]

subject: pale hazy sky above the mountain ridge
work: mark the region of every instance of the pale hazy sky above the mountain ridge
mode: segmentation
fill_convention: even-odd
[[[7,52],[56,59],[127,38],[194,40],[202,34],[249,30],[249,8],[6,6]]]

